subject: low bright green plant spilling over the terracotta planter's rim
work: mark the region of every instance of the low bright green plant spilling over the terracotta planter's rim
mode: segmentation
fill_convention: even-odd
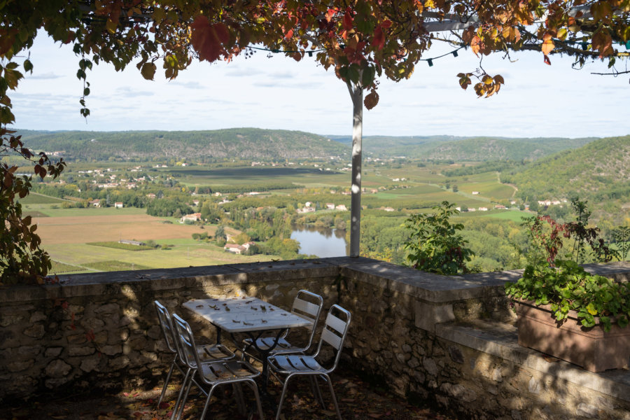
[[[505,285],[505,293],[512,299],[549,304],[557,321],[566,321],[569,311],[576,311],[585,328],[599,322],[610,331],[612,323],[622,328],[629,323],[630,283],[589,274],[575,261],[558,260],[556,267],[528,265],[519,281]]]

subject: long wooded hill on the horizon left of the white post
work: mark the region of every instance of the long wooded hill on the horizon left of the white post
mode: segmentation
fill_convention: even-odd
[[[29,148],[63,151],[66,160],[165,158],[313,158],[349,155],[350,148],[306,132],[234,128],[213,131],[36,132],[19,130]]]

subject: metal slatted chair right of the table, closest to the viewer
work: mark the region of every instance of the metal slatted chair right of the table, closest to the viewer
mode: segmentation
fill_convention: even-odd
[[[272,371],[286,375],[284,384],[282,386],[282,393],[280,395],[280,402],[278,404],[278,412],[276,413],[276,420],[280,419],[280,412],[282,409],[282,403],[286,397],[286,388],[289,380],[294,376],[310,376],[314,379],[314,392],[316,398],[321,402],[323,406],[323,399],[321,398],[321,392],[317,384],[317,378],[321,378],[328,382],[330,388],[330,394],[332,395],[332,402],[335,405],[335,411],[337,417],[341,420],[341,412],[339,412],[339,405],[337,405],[337,397],[335,396],[335,390],[332,389],[332,381],[330,381],[330,373],[335,370],[337,363],[339,363],[339,357],[344,346],[344,340],[346,339],[346,333],[348,332],[348,326],[350,325],[350,312],[346,311],[342,307],[333,304],[328,311],[328,316],[324,324],[324,328],[321,332],[321,339],[317,346],[317,351],[312,356],[305,356],[303,354],[275,354],[269,356],[269,367]],[[330,367],[323,367],[317,361],[317,357],[324,345],[332,346],[335,352],[335,360]]]

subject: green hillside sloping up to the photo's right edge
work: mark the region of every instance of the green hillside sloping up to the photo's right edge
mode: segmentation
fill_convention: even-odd
[[[580,195],[591,203],[630,202],[630,136],[592,141],[542,158],[520,172],[501,174],[521,197],[538,200]]]

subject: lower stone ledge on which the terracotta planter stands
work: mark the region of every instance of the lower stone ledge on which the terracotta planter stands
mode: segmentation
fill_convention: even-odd
[[[630,370],[588,372],[563,360],[545,360],[542,353],[519,346],[517,328],[493,321],[436,325],[435,335],[456,344],[528,367],[543,375],[630,402]]]

